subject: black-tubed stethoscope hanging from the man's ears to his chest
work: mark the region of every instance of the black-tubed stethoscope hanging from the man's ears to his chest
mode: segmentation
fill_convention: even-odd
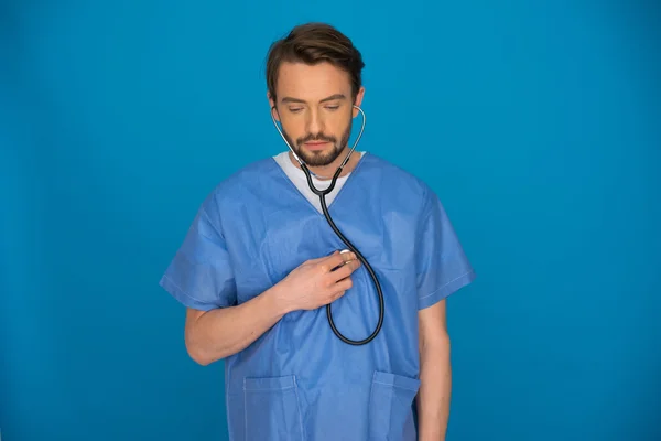
[[[289,147],[289,149],[291,150],[291,152],[294,155],[294,158],[296,159],[296,161],[299,161],[299,164],[301,164],[301,169],[303,170],[303,172],[305,173],[305,176],[307,178],[307,185],[310,185],[310,190],[312,190],[312,192],[314,194],[316,194],[317,196],[319,196],[319,202],[322,203],[322,209],[324,212],[324,216],[326,217],[326,220],[328,222],[328,225],[330,225],[330,228],[333,228],[333,230],[335,232],[335,234],[337,235],[337,237],[339,237],[342,239],[342,241],[345,243],[345,245],[349,248],[349,250],[354,251],[354,254],[356,255],[356,257],[358,257],[358,259],[365,266],[365,268],[369,272],[369,276],[371,277],[371,279],[372,279],[373,283],[375,283],[375,288],[377,289],[377,294],[379,295],[379,322],[377,323],[377,327],[371,333],[371,335],[368,336],[365,340],[356,341],[356,340],[350,340],[350,338],[345,337],[337,330],[337,327],[335,326],[335,322],[333,321],[333,312],[330,310],[330,303],[328,303],[326,305],[326,315],[328,316],[328,324],[330,324],[330,329],[333,330],[333,332],[335,333],[335,335],[337,335],[337,337],[339,340],[342,340],[343,342],[345,342],[347,344],[350,344],[350,345],[364,345],[364,344],[367,344],[367,343],[371,342],[377,336],[377,334],[379,333],[379,331],[381,331],[381,326],[383,324],[383,310],[384,310],[384,305],[383,305],[383,292],[381,291],[381,284],[379,283],[379,279],[377,278],[377,275],[375,273],[373,269],[371,268],[371,266],[369,265],[369,262],[367,261],[367,259],[354,246],[354,244],[351,244],[349,241],[349,239],[347,239],[345,237],[345,235],[342,234],[342,232],[339,230],[339,228],[337,228],[337,226],[333,222],[333,218],[330,217],[330,213],[328,213],[328,207],[326,206],[326,195],[329,194],[333,191],[333,189],[335,187],[335,183],[337,182],[337,178],[339,178],[339,174],[342,173],[343,168],[349,161],[349,158],[351,157],[351,153],[354,152],[354,150],[356,150],[356,147],[358,146],[358,141],[360,141],[360,137],[362,137],[362,131],[365,130],[365,111],[360,107],[355,106],[355,105],[354,105],[354,108],[356,108],[362,115],[362,125],[360,127],[360,132],[358,133],[358,138],[356,138],[356,141],[354,142],[354,147],[351,148],[351,150],[349,150],[349,152],[347,153],[347,155],[344,159],[344,161],[342,162],[342,164],[339,164],[339,166],[335,171],[335,174],[333,175],[333,180],[330,181],[330,185],[326,190],[318,190],[316,186],[314,186],[314,183],[312,182],[312,172],[310,171],[310,169],[307,168],[307,165],[301,160],[301,158],[299,158],[299,155],[296,154],[296,152],[294,151],[294,149],[290,146],[290,143],[288,142],[286,138],[284,137],[284,133],[282,133],[282,130],[280,129],[280,126],[278,126],[278,122],[275,121],[275,118],[273,117],[273,111],[272,110],[275,109],[275,106],[273,106],[271,108],[271,119],[273,120],[273,125],[275,126],[275,129],[278,129],[278,132],[280,132],[280,136],[284,140],[284,143]]]

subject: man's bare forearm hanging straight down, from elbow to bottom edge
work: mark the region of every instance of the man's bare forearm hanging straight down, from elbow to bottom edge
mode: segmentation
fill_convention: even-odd
[[[422,347],[420,363],[419,440],[442,441],[447,429],[452,389],[449,338]]]

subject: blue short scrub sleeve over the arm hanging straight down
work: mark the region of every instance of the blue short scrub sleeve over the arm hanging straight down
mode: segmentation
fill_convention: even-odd
[[[441,201],[427,189],[416,240],[418,308],[429,308],[475,279]]]

